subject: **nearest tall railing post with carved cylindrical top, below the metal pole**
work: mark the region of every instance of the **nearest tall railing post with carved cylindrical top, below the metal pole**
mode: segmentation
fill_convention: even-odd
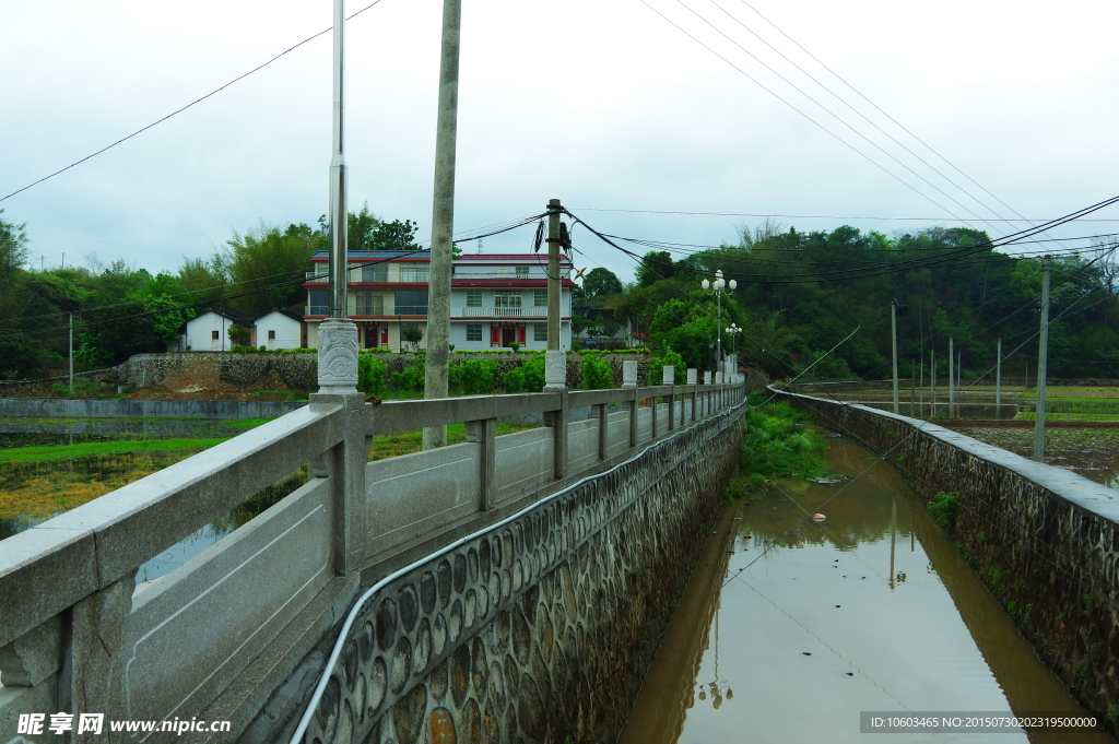
[[[331,318],[319,326],[319,392],[309,396],[313,407],[340,405],[342,440],[323,453],[328,478],[333,481],[335,571],[349,574],[365,555],[365,468],[369,450],[365,436],[365,394],[357,390],[357,326]],[[318,464],[318,463],[316,463]]]

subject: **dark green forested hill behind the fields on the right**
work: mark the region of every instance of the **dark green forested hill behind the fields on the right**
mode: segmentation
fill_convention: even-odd
[[[1017,349],[1005,374],[1022,376],[1028,365],[1033,375],[1041,262],[1008,254],[1051,252],[1050,375],[1119,377],[1115,237],[1097,239],[1080,253],[1055,242],[991,248],[986,233],[968,228],[890,237],[846,226],[812,233],[767,226],[743,230],[740,238],[737,245],[699,251],[657,245],[662,249],[645,255],[637,286],[615,316],[702,367],[714,337],[716,301],[699,282],[722,270],[726,280],[737,281],[737,289],[723,295],[722,324],[743,330],[730,339],[724,331],[724,345],[736,346],[747,364],[773,377],[792,376],[856,328],[808,377],[888,377],[895,299],[908,308],[897,323],[902,375],[909,376],[911,360],[920,364],[922,357],[928,370],[933,348],[943,375],[949,337],[968,373],[995,364],[1002,337],[1004,355]]]

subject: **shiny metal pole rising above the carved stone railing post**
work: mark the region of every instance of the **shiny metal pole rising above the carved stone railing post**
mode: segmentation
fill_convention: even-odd
[[[330,317],[344,320],[346,318],[346,281],[347,281],[347,229],[346,224],[346,157],[345,145],[345,93],[344,65],[346,62],[346,1],[335,0],[335,58],[333,58],[333,96],[335,110],[332,122],[332,150],[330,158],[330,269],[329,295]]]

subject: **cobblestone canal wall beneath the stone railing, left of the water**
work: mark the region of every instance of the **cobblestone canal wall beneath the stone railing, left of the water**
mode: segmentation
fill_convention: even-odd
[[[737,467],[743,408],[378,591],[304,742],[613,741]]]

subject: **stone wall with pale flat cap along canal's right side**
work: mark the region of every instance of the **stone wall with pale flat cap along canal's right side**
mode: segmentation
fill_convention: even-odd
[[[1119,732],[1119,491],[915,418],[775,395],[893,462],[1023,637]]]

